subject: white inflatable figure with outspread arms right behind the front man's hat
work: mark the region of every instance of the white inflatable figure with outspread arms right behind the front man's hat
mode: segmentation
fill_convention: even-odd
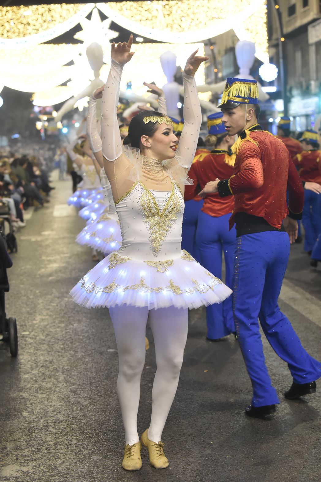
[[[254,79],[250,74],[250,69],[255,59],[255,43],[248,40],[239,40],[235,46],[235,54],[237,57],[237,65],[239,67],[239,73],[235,76],[237,79]],[[217,84],[205,84],[198,85],[198,92],[211,92],[212,94],[222,94],[225,87],[225,80],[218,82]],[[257,83],[259,91],[259,100],[265,102],[269,99],[269,96],[263,92],[260,82]],[[208,103],[211,104],[211,103]],[[204,107],[204,103],[202,104]],[[213,104],[211,104],[213,106]],[[211,109],[210,109],[211,110]],[[215,108],[215,111],[220,110]]]

